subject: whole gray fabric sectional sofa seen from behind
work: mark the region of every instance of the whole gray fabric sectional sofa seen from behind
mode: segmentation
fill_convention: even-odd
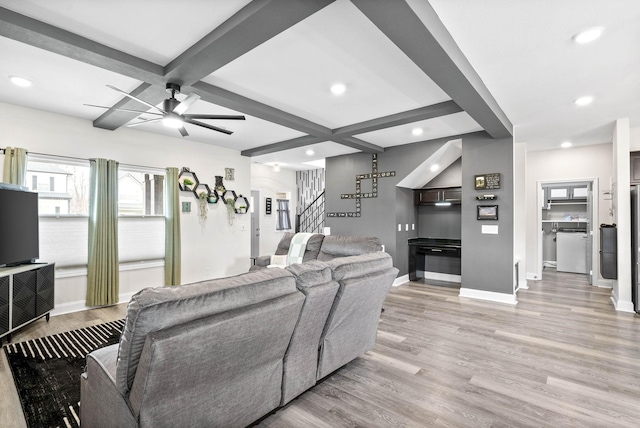
[[[328,261],[137,293],[120,343],[87,356],[82,425],[244,427],[371,349],[398,270],[382,251],[330,256],[372,242],[358,240],[330,239]]]

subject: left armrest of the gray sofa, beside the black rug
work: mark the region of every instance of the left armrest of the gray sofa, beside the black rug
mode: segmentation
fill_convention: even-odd
[[[86,371],[80,376],[80,421],[95,428],[136,427],[127,399],[116,388],[118,344],[87,355]]]

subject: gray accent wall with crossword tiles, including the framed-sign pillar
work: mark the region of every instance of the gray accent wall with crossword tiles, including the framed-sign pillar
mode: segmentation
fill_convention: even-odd
[[[485,132],[462,138],[462,205],[460,238],[462,239],[462,287],[496,293],[513,293],[513,139],[492,139]],[[399,275],[408,273],[407,239],[424,236],[420,211],[413,205],[413,191],[396,184],[416,169],[451,138],[442,138],[387,148],[379,153],[378,170],[395,171],[395,177],[378,180],[378,197],[362,199],[361,217],[327,218],[332,235],[377,236],[391,254]],[[341,199],[341,193],[355,191],[356,174],[371,172],[371,154],[356,153],[328,158],[325,169],[327,212],[354,211],[355,201]],[[474,189],[474,175],[501,174],[498,195],[499,220],[476,220],[476,195],[488,193]],[[362,183],[362,192],[371,191],[371,181]],[[421,207],[422,208],[422,207]],[[451,223],[457,220],[451,219]],[[411,230],[415,222],[416,229]],[[398,224],[401,230],[398,231]],[[405,225],[409,224],[409,230]],[[497,235],[482,234],[481,225],[498,225]],[[424,227],[424,226],[423,226]],[[429,229],[424,231],[428,234]],[[444,237],[444,236],[443,236]]]

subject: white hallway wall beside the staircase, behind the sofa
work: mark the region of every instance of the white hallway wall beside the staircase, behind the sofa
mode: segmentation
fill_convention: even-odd
[[[295,232],[297,197],[296,197],[296,172],[286,169],[274,171],[273,167],[253,163],[251,164],[251,190],[260,192],[260,255],[273,254],[278,247],[278,242],[285,232]],[[291,230],[276,230],[276,193],[287,192],[291,194],[289,210],[291,212]],[[271,215],[266,215],[264,210],[265,198],[271,198]]]

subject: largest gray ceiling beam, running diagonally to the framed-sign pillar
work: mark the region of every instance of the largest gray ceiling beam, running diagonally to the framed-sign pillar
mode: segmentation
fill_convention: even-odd
[[[513,125],[429,2],[419,4],[419,17],[406,0],[351,1],[489,135],[512,136]]]

